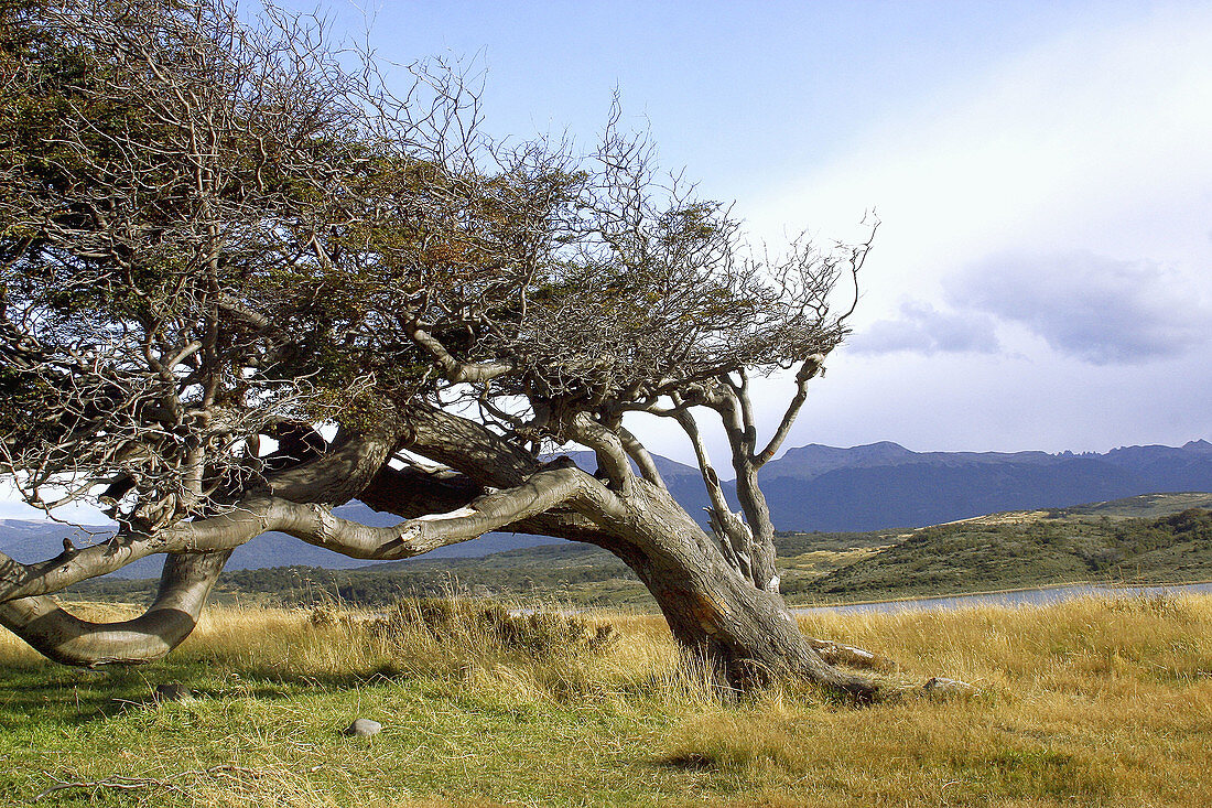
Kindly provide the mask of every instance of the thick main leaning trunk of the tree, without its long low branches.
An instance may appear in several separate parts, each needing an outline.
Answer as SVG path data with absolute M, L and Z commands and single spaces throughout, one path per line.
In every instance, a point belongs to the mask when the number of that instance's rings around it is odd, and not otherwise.
M 481 485 L 516 485 L 543 468 L 568 466 L 543 466 L 480 425 L 440 410 L 413 414 L 410 425 L 412 450 L 448 463 Z M 652 593 L 687 654 L 711 666 L 732 687 L 800 676 L 861 699 L 875 695 L 871 681 L 825 662 L 777 591 L 758 586 L 730 563 L 720 539 L 704 533 L 663 485 L 631 477 L 623 494 L 622 485 L 568 471 L 578 477 L 578 488 L 561 508 L 508 528 L 584 541 L 614 553 Z M 394 489 L 390 482 L 378 483 L 362 499 L 408 514 L 383 495 Z

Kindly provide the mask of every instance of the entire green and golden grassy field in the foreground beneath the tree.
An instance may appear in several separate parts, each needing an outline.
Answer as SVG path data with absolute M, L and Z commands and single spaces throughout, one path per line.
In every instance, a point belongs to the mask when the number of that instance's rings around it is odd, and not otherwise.
M 0 803 L 1212 804 L 1212 598 L 807 619 L 898 660 L 892 684 L 981 688 L 869 707 L 802 685 L 724 698 L 647 616 L 599 615 L 617 641 L 567 653 L 475 620 L 318 618 L 213 608 L 168 660 L 114 671 L 4 637 Z M 168 682 L 195 698 L 155 701 Z M 341 735 L 359 716 L 383 732 Z

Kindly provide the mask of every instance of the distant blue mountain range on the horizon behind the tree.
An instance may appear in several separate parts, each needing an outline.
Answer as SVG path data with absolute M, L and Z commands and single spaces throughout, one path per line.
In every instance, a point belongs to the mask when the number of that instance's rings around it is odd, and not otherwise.
M 594 467 L 588 453 L 571 453 L 571 456 L 584 468 Z M 703 514 L 708 499 L 698 470 L 667 457 L 654 460 L 678 501 L 692 514 Z M 850 449 L 811 444 L 789 449 L 768 462 L 761 482 L 779 530 L 919 528 L 999 511 L 1067 507 L 1139 494 L 1212 491 L 1212 443 L 1125 446 L 1105 454 L 917 453 L 891 442 Z M 726 493 L 731 496 L 731 490 Z M 398 522 L 396 517 L 377 513 L 361 502 L 342 506 L 337 513 L 371 525 Z M 705 516 L 702 518 L 705 520 Z M 65 536 L 76 534 L 80 545 L 102 539 L 110 529 L 86 530 L 81 534 L 61 524 L 4 519 L 0 551 L 21 562 L 40 561 L 58 553 Z M 424 557 L 486 556 L 556 541 L 524 534 L 488 534 Z M 347 569 L 366 562 L 282 534 L 267 534 L 239 547 L 228 568 L 287 564 Z M 145 558 L 124 568 L 122 574 L 154 576 L 159 567 L 159 559 Z

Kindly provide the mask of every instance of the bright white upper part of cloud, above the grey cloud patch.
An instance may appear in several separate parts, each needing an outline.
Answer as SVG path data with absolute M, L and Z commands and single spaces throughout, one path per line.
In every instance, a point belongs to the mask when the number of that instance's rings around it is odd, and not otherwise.
M 857 317 L 887 319 L 905 297 L 938 305 L 945 277 L 1007 251 L 1212 262 L 1212 8 L 1091 19 L 924 90 L 750 212 L 774 240 L 804 222 L 845 237 L 875 206 Z

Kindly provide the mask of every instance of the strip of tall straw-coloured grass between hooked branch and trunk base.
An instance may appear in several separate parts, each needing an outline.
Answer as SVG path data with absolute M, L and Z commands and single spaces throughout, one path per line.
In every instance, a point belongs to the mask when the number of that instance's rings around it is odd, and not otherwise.
M 528 699 L 690 687 L 659 619 L 518 613 L 474 599 L 406 599 L 377 611 L 217 605 L 175 656 L 284 681 L 424 678 Z

